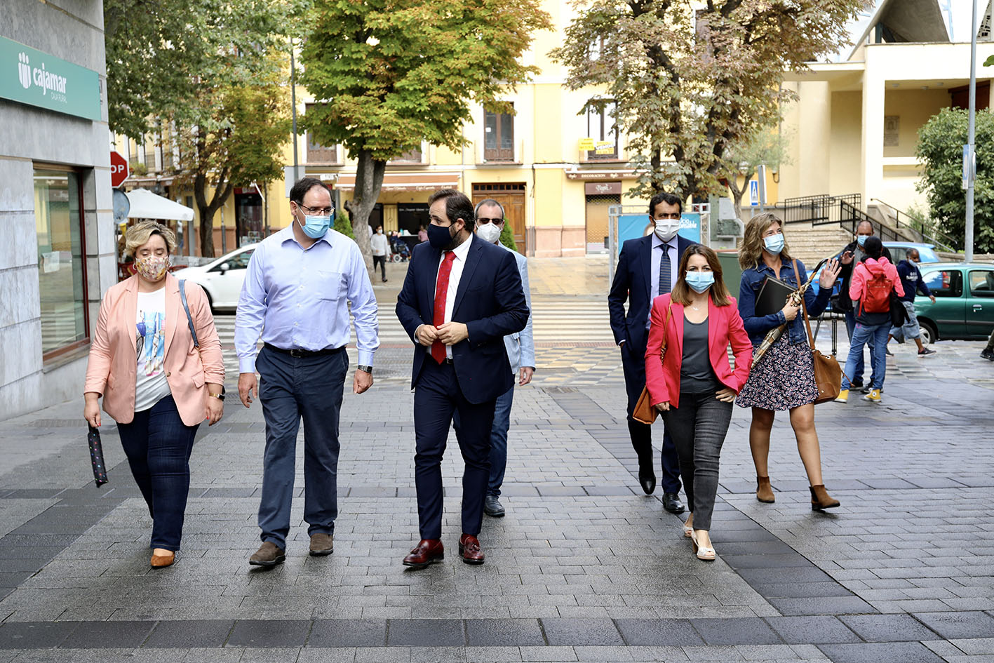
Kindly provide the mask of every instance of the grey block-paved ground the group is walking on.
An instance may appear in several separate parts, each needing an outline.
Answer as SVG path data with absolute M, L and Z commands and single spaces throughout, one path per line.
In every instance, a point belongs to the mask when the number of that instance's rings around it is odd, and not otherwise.
M 596 292 L 606 272 L 600 283 L 596 260 L 533 264 L 539 372 L 515 395 L 508 514 L 485 519 L 485 565 L 454 555 L 419 572 L 400 564 L 417 518 L 411 349 L 387 287 L 403 271 L 391 271 L 377 285 L 377 383 L 345 395 L 330 557 L 307 556 L 298 499 L 286 563 L 248 567 L 257 406 L 230 401 L 218 425 L 202 426 L 181 558 L 158 572 L 112 424 L 110 483 L 94 488 L 82 401 L 0 421 L 0 663 L 994 661 L 994 364 L 978 358 L 982 344 L 941 342 L 926 360 L 897 348 L 882 405 L 818 407 L 826 484 L 842 501 L 833 513 L 810 510 L 785 417 L 773 429 L 776 503 L 756 502 L 748 415 L 736 409 L 712 530 L 718 560 L 705 564 L 632 474 Z M 565 291 L 570 273 L 593 285 Z M 219 316 L 223 340 L 230 325 Z M 460 472 L 452 437 L 443 540 L 453 553 Z M 299 450 L 296 485 L 299 496 Z

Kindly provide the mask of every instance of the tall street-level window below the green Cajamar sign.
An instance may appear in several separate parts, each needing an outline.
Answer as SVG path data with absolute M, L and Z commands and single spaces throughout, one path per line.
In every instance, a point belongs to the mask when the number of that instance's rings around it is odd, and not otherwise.
M 35 226 L 42 304 L 42 357 L 48 360 L 87 338 L 80 176 L 35 170 Z

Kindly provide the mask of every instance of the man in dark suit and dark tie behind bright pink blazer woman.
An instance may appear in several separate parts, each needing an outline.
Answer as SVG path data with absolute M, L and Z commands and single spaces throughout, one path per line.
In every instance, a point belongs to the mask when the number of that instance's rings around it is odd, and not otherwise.
M 607 294 L 611 331 L 621 348 L 621 367 L 628 392 L 628 433 L 638 454 L 638 481 L 647 495 L 656 489 L 652 469 L 652 426 L 640 423 L 631 414 L 645 387 L 645 346 L 648 340 L 652 300 L 673 289 L 677 269 L 685 250 L 694 243 L 677 236 L 683 202 L 678 196 L 661 193 L 649 202 L 649 221 L 654 232 L 621 247 L 614 281 Z M 628 301 L 628 312 L 624 303 Z M 680 502 L 680 463 L 670 433 L 663 431 L 663 507 L 670 513 L 683 513 Z

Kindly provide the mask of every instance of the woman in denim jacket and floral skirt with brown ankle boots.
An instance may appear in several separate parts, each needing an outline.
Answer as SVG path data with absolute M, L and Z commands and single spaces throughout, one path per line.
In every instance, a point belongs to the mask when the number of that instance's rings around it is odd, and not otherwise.
M 786 410 L 790 413 L 797 450 L 811 485 L 811 508 L 821 510 L 837 507 L 839 501 L 829 496 L 821 478 L 821 451 L 818 432 L 814 428 L 814 400 L 818 397 L 818 388 L 814 382 L 814 363 L 803 316 L 799 314 L 800 307 L 788 303 L 776 313 L 755 314 L 755 297 L 766 276 L 779 278 L 794 287 L 797 287 L 798 280 L 801 283 L 807 280 L 804 264 L 800 260 L 796 262 L 795 275 L 779 218 L 764 213 L 748 221 L 743 247 L 739 250 L 739 263 L 743 267 L 739 313 L 743 317 L 745 331 L 754 347 L 762 343 L 769 330 L 783 324 L 787 328 L 762 360 L 752 367 L 736 403 L 741 408 L 752 409 L 748 444 L 752 462 L 755 463 L 756 499 L 760 502 L 774 500 L 766 465 L 769 431 L 773 427 L 775 412 Z M 804 293 L 808 315 L 817 316 L 825 310 L 838 275 L 838 261 L 829 260 L 821 272 L 818 294 L 811 288 Z

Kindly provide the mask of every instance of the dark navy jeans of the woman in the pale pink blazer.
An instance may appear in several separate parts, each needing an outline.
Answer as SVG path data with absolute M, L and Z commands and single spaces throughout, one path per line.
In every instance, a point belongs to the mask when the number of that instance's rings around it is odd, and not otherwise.
M 172 396 L 135 413 L 130 423 L 117 423 L 131 474 L 152 516 L 149 548 L 180 549 L 198 426 L 183 423 Z

